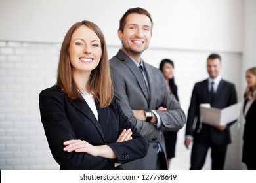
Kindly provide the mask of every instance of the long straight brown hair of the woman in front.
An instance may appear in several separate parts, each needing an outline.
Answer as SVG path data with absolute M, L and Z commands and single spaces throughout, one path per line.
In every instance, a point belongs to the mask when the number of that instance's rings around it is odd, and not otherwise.
M 62 42 L 60 50 L 60 60 L 58 63 L 57 71 L 57 84 L 60 86 L 62 91 L 68 95 L 68 99 L 73 101 L 75 99 L 81 98 L 79 88 L 75 84 L 74 78 L 72 76 L 72 65 L 70 61 L 70 40 L 74 31 L 81 26 L 87 26 L 92 29 L 101 42 L 102 56 L 98 66 L 91 71 L 89 78 L 89 88 L 93 92 L 93 96 L 98 101 L 101 108 L 110 105 L 113 98 L 113 86 L 110 76 L 110 67 L 108 61 L 108 52 L 106 49 L 106 42 L 104 35 L 100 28 L 90 21 L 77 22 L 66 33 L 64 41 Z

